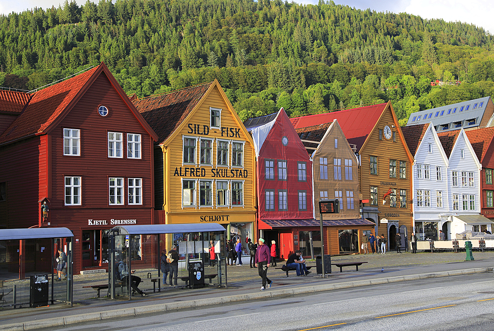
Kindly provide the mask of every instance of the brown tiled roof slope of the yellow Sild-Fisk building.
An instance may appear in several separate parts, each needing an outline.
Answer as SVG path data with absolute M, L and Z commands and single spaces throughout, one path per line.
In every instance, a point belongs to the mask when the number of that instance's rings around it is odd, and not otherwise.
M 133 100 L 133 104 L 158 134 L 157 143 L 161 145 L 187 118 L 213 83 L 214 81 Z

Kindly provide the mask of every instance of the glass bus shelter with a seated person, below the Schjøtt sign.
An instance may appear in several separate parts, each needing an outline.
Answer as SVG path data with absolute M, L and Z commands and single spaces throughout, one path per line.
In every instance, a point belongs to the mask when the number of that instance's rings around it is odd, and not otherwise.
M 172 234 L 173 243 L 168 245 L 170 247 L 165 247 L 164 241 L 160 240 L 165 234 Z M 139 245 L 134 243 L 139 243 Z M 144 258 L 151 258 L 153 265 L 158 269 L 158 277 L 151 279 L 155 284 L 158 283 L 158 291 L 161 292 L 162 250 L 166 249 L 169 253 L 171 246 L 175 247 L 180 256 L 179 260 L 175 261 L 175 263 L 178 262 L 178 273 L 176 279 L 170 278 L 171 286 L 193 287 L 194 282 L 198 283 L 201 279 L 204 284 L 206 278 L 213 285 L 228 286 L 226 229 L 221 224 L 117 225 L 109 233 L 110 297 L 115 299 L 119 295 L 131 299 L 131 282 L 134 271 L 132 264 L 138 265 L 138 261 Z M 214 260 L 210 260 L 211 247 L 214 250 Z M 142 279 L 142 281 L 146 280 Z

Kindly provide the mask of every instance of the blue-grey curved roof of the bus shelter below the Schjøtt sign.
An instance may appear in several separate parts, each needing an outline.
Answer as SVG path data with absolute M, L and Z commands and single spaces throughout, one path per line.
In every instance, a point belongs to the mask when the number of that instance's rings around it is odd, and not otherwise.
M 151 225 L 117 225 L 120 234 L 159 234 L 182 232 L 215 232 L 226 231 L 218 223 L 184 223 L 184 224 L 151 224 Z

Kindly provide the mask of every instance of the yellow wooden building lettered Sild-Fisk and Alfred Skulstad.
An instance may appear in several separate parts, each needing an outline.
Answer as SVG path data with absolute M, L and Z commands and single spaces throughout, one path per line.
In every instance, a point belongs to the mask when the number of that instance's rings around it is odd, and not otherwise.
M 159 135 L 157 222 L 220 223 L 247 246 L 256 231 L 254 145 L 218 81 L 133 103 Z M 179 236 L 166 237 L 165 247 Z

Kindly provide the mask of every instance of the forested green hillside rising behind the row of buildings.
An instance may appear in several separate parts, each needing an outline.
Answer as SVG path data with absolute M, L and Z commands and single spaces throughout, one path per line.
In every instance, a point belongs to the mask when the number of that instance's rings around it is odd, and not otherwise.
M 333 1 L 66 0 L 0 16 L 0 43 L 1 86 L 33 90 L 103 61 L 138 96 L 217 78 L 243 119 L 392 100 L 403 121 L 494 94 L 482 28 Z

